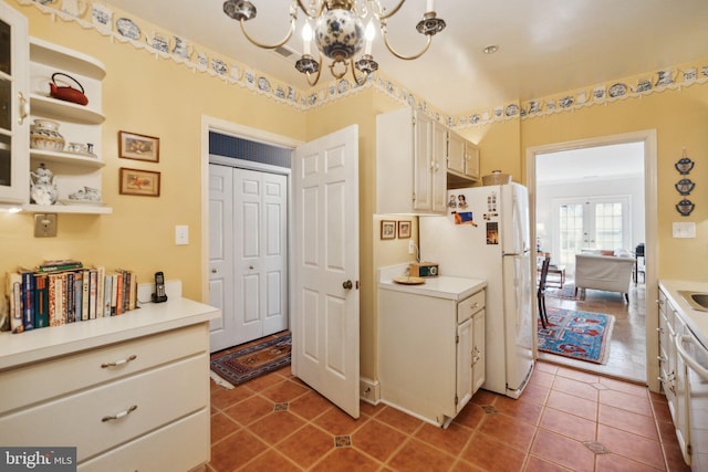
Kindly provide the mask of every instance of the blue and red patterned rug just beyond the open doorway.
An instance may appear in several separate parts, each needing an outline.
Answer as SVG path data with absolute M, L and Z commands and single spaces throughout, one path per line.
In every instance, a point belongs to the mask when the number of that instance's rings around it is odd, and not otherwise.
M 615 317 L 602 313 L 549 307 L 544 328 L 539 319 L 539 350 L 605 364 Z

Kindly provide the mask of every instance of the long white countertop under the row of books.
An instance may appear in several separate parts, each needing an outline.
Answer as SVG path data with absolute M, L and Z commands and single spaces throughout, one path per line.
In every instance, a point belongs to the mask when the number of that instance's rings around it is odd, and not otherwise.
M 188 298 L 147 303 L 118 316 L 0 334 L 0 369 L 208 322 L 219 308 Z

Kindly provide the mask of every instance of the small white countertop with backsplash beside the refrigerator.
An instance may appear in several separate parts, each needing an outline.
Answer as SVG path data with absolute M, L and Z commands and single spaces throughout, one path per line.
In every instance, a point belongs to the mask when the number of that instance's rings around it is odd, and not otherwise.
M 407 275 L 407 269 L 408 264 L 381 268 L 378 270 L 378 287 L 459 302 L 487 286 L 487 281 L 481 279 L 451 277 L 447 275 L 425 277 L 425 283 L 420 285 L 395 283 L 393 279 L 400 275 Z

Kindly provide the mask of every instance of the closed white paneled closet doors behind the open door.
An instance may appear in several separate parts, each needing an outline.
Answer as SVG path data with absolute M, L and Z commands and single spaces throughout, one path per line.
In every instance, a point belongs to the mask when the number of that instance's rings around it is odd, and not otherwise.
M 288 328 L 287 177 L 226 166 L 210 172 L 211 323 L 220 350 Z

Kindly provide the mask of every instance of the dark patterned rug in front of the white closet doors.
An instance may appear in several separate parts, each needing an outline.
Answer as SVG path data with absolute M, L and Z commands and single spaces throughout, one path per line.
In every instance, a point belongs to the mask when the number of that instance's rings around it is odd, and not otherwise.
M 218 377 L 215 378 L 212 375 L 211 378 L 220 385 L 223 385 L 220 380 L 226 380 L 233 386 L 241 385 L 263 374 L 289 366 L 291 348 L 290 332 L 278 337 L 266 338 L 260 343 L 214 358 L 211 371 Z

